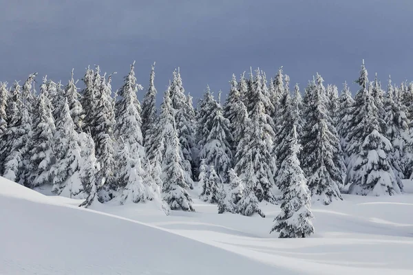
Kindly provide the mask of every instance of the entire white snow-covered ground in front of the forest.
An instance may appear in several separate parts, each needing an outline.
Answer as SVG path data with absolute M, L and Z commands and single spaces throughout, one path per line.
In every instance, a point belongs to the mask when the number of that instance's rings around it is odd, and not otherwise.
M 277 239 L 267 217 L 197 212 L 165 216 L 41 195 L 0 178 L 0 274 L 413 274 L 413 184 L 394 197 L 344 195 L 313 205 L 315 234 Z M 195 194 L 192 194 L 195 197 Z

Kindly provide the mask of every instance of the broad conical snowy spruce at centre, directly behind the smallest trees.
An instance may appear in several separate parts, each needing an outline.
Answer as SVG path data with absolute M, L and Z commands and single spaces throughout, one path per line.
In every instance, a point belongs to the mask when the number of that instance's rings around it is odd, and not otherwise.
M 232 152 L 230 141 L 232 140 L 229 120 L 222 116 L 220 105 L 215 111 L 212 129 L 207 137 L 207 142 L 203 144 L 200 157 L 205 159 L 208 165 L 213 166 L 214 170 L 224 182 L 227 181 L 228 169 L 231 168 Z

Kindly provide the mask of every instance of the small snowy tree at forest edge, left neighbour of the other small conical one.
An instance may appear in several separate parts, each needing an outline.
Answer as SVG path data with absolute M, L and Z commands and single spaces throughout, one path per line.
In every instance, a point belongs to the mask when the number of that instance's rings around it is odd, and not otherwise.
M 218 214 L 224 212 L 238 213 L 238 203 L 244 195 L 244 184 L 242 180 L 235 173 L 234 169 L 229 170 L 229 188 L 221 185 L 220 194 L 218 197 Z

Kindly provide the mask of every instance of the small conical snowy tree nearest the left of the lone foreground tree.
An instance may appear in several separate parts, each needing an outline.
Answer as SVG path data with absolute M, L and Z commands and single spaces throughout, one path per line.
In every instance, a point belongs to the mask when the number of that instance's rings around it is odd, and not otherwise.
M 257 196 L 255 196 L 255 189 L 258 184 L 258 178 L 255 175 L 255 168 L 252 160 L 246 164 L 246 169 L 244 170 L 244 175 L 242 177 L 242 182 L 245 186 L 244 195 L 241 197 L 240 201 L 237 203 L 237 210 L 240 214 L 244 216 L 252 216 L 257 213 L 261 217 L 265 218 L 264 212 L 262 212 L 260 206 L 258 205 Z

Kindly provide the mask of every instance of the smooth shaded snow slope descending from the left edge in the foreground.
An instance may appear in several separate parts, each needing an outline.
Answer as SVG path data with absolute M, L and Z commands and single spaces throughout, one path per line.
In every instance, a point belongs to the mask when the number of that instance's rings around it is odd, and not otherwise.
M 201 275 L 280 271 L 154 226 L 65 206 L 3 178 L 0 221 L 0 274 Z

